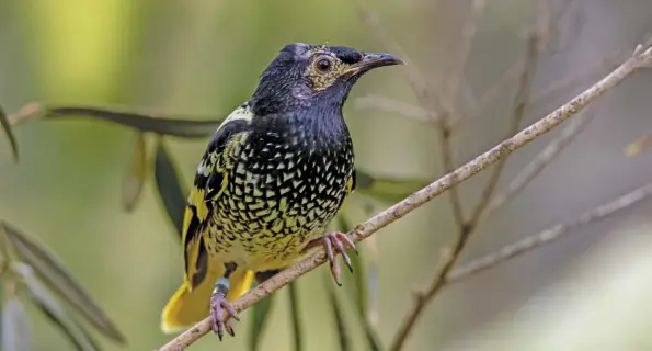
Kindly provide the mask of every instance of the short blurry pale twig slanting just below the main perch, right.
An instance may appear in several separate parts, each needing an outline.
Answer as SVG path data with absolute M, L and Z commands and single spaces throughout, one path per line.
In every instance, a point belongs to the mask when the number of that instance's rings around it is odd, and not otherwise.
M 561 132 L 559 137 L 551 140 L 521 172 L 512 180 L 507 188 L 501 193 L 496 194 L 490 202 L 483 217 L 489 217 L 490 214 L 508 203 L 516 194 L 518 194 L 529 182 L 531 182 L 554 158 L 563 151 L 563 149 L 571 145 L 575 137 L 584 131 L 588 125 L 595 113 L 591 111 L 582 111 L 582 113 L 569 123 L 569 125 Z

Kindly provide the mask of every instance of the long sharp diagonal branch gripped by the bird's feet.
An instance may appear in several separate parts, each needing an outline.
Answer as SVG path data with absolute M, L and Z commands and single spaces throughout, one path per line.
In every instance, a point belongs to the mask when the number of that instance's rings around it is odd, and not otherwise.
M 494 165 L 500 159 L 512 154 L 514 150 L 524 147 L 537 137 L 548 133 L 549 131 L 561 124 L 563 121 L 570 118 L 572 115 L 580 112 L 582 109 L 586 107 L 588 104 L 591 104 L 598 98 L 603 97 L 607 91 L 619 86 L 633 72 L 651 64 L 652 47 L 649 47 L 644 50 L 643 48 L 637 47 L 634 55 L 632 55 L 622 65 L 616 68 L 616 70 L 614 70 L 611 73 L 596 82 L 594 86 L 592 86 L 591 88 L 588 88 L 587 90 L 585 90 L 584 92 L 582 92 L 581 94 L 579 94 L 577 97 L 559 107 L 558 110 L 553 111 L 546 117 L 523 129 L 513 137 L 500 143 L 487 152 L 478 156 L 470 162 L 458 168 L 456 171 L 444 176 L 443 178 L 438 179 L 432 184 L 408 196 L 403 201 L 369 218 L 367 222 L 356 226 L 353 230 L 348 233 L 348 236 L 354 241 L 361 241 L 374 235 L 376 231 L 390 225 L 397 219 L 402 218 L 415 208 L 441 195 L 445 191 L 450 190 L 450 188 L 461 183 L 462 181 L 466 181 L 467 179 L 482 171 L 487 167 Z M 236 308 L 236 310 L 241 312 L 248 308 L 249 306 L 253 305 L 254 303 L 261 301 L 265 296 L 295 281 L 299 276 L 316 269 L 320 264 L 323 264 L 327 258 L 323 250 L 319 249 L 317 252 L 308 256 L 300 262 L 266 280 L 262 284 L 259 284 L 258 286 L 249 291 L 247 294 L 235 301 L 232 305 Z M 179 335 L 176 338 L 171 340 L 169 343 L 167 343 L 159 350 L 184 350 L 187 346 L 195 342 L 197 339 L 206 335 L 209 330 L 211 330 L 211 319 L 207 317 L 206 319 L 199 321 L 185 332 Z

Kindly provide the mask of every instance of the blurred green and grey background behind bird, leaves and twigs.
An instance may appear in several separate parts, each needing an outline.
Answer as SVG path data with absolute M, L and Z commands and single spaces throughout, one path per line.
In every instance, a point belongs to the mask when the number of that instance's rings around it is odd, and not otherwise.
M 556 2 L 556 1 L 548 1 Z M 559 1 L 557 1 L 558 3 Z M 32 101 L 119 105 L 161 114 L 222 117 L 249 98 L 260 72 L 290 42 L 387 50 L 361 22 L 356 2 L 331 1 L 0 1 L 0 102 L 8 112 Z M 365 4 L 434 87 L 451 65 L 470 1 L 379 0 Z M 524 55 L 535 1 L 488 1 L 462 80 L 462 111 Z M 541 56 L 533 90 L 631 52 L 652 31 L 647 0 L 574 0 L 559 20 L 556 49 Z M 614 67 L 559 89 L 528 106 L 525 124 L 570 100 Z M 367 94 L 416 104 L 403 68 L 365 77 L 345 106 L 358 167 L 374 174 L 435 180 L 442 176 L 437 133 L 398 113 L 361 109 Z M 652 75 L 637 73 L 592 105 L 594 121 L 508 206 L 487 220 L 462 261 L 615 199 L 652 179 L 652 152 L 624 148 L 652 131 Z M 454 136 L 458 162 L 506 133 L 515 89 L 505 89 Z M 148 182 L 131 213 L 121 206 L 121 181 L 134 131 L 89 118 L 27 123 L 15 128 L 21 160 L 0 140 L 0 218 L 37 236 L 59 257 L 125 332 L 121 347 L 152 350 L 170 340 L 159 330 L 161 308 L 182 279 L 174 227 Z M 504 186 L 559 131 L 514 155 Z M 206 140 L 169 138 L 190 184 Z M 485 174 L 461 186 L 469 207 Z M 354 224 L 366 202 L 348 206 Z M 375 202 L 371 213 L 388 203 Z M 649 350 L 652 348 L 652 202 L 595 222 L 571 236 L 445 290 L 433 302 L 407 350 Z M 427 285 L 455 225 L 447 196 L 382 229 L 378 252 L 378 320 L 388 346 Z M 298 281 L 306 350 L 336 350 L 338 339 L 319 268 Z M 346 273 L 347 274 L 347 273 Z M 277 292 L 264 350 L 291 350 L 287 288 Z M 34 347 L 70 344 L 33 308 Z M 248 320 L 248 312 L 242 314 Z M 222 343 L 207 337 L 192 350 L 245 350 L 249 322 Z M 354 349 L 363 335 L 352 333 Z

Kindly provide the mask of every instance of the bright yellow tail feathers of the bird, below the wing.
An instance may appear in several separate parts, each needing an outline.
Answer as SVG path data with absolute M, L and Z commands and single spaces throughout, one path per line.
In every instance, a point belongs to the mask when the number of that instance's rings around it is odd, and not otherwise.
M 224 272 L 219 272 L 224 273 Z M 215 281 L 221 276 L 217 272 L 209 272 L 199 285 L 191 290 L 186 280 L 176 290 L 174 295 L 163 308 L 161 316 L 161 330 L 165 333 L 178 332 L 186 329 L 208 317 L 210 313 L 210 295 Z M 228 301 L 233 301 L 249 291 L 254 273 L 250 270 L 238 268 L 229 276 Z

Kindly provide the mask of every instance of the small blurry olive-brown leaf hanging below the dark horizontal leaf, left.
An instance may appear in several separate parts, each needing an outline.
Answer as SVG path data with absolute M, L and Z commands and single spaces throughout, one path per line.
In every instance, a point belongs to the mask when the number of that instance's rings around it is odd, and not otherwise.
M 126 211 L 134 210 L 147 178 L 147 147 L 142 133 L 136 134 L 129 168 L 123 178 L 122 199 Z

